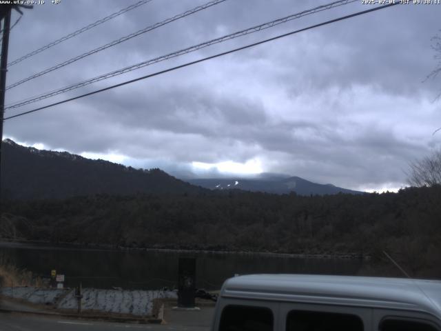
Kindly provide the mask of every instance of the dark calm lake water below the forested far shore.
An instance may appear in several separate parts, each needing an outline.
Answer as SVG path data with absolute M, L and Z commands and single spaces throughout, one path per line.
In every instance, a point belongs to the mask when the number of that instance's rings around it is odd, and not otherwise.
M 196 257 L 196 287 L 217 290 L 234 274 L 308 273 L 359 274 L 369 261 L 300 259 L 258 254 L 145 252 L 72 248 L 25 243 L 0 243 L 0 257 L 41 277 L 50 270 L 65 274 L 65 286 L 125 289 L 174 288 L 178 258 Z

